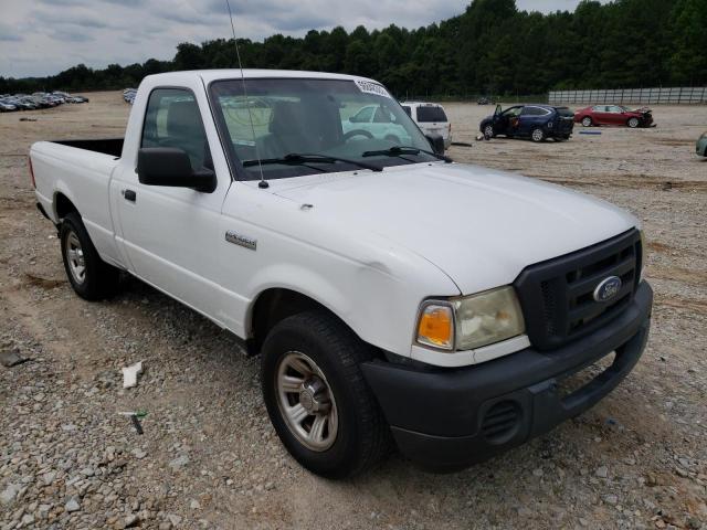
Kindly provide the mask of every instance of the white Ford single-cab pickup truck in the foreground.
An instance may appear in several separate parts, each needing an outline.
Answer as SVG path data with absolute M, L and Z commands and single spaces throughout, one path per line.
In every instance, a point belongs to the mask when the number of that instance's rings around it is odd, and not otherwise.
M 350 128 L 369 106 L 409 145 Z M 30 170 L 75 292 L 127 272 L 242 338 L 306 468 L 349 476 L 397 445 L 444 471 L 609 393 L 653 294 L 633 216 L 440 140 L 371 80 L 177 72 L 145 78 L 125 139 L 40 141 Z

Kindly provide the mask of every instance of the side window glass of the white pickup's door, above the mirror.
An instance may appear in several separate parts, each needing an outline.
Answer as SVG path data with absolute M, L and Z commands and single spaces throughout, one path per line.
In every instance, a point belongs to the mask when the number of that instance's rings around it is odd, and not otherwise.
M 181 88 L 152 91 L 140 147 L 175 147 L 189 155 L 192 169 L 212 169 L 207 134 L 194 95 Z

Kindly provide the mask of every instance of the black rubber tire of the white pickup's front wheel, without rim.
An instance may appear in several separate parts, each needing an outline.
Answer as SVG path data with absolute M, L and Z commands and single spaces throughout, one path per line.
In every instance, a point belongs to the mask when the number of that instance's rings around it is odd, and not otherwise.
M 336 403 L 337 433 L 325 451 L 308 448 L 281 412 L 278 370 L 293 352 L 304 353 L 316 363 Z M 368 344 L 324 311 L 288 317 L 265 338 L 261 383 L 267 413 L 283 445 L 312 473 L 327 478 L 350 477 L 374 466 L 389 452 L 390 428 L 360 369 L 372 358 Z

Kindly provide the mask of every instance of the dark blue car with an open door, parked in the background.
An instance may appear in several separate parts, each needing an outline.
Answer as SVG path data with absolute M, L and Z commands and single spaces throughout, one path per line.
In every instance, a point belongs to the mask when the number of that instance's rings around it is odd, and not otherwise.
M 494 115 L 484 118 L 479 126 L 486 138 L 503 135 L 508 138 L 530 138 L 532 141 L 546 138 L 567 140 L 573 128 L 572 112 L 551 105 L 516 105 L 505 110 L 498 105 Z

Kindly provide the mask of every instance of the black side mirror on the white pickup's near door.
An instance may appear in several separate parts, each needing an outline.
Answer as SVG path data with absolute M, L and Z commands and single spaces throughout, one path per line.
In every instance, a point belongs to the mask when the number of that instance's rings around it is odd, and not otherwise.
M 189 155 L 175 147 L 145 147 L 137 152 L 137 177 L 141 184 L 192 188 L 211 193 L 217 189 L 217 174 L 202 168 L 191 169 Z

